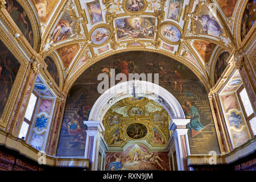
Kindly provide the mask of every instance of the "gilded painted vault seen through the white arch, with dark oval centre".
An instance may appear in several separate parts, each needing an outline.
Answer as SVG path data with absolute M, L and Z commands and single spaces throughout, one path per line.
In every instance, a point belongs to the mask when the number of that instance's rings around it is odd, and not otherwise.
M 169 116 L 157 102 L 146 97 L 127 97 L 116 102 L 104 116 L 104 138 L 111 147 L 131 141 L 166 146 L 170 133 Z

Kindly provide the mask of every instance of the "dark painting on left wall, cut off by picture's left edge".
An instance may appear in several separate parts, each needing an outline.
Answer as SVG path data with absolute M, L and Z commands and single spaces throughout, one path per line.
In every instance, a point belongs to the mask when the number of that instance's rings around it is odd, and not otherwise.
M 0 116 L 13 87 L 20 63 L 0 41 Z

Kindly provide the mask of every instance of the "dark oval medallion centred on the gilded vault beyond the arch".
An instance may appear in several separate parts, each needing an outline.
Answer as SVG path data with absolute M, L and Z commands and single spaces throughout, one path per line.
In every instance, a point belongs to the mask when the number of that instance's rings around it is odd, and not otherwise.
M 127 127 L 126 134 L 132 139 L 142 139 L 147 135 L 147 127 L 141 123 L 133 123 Z

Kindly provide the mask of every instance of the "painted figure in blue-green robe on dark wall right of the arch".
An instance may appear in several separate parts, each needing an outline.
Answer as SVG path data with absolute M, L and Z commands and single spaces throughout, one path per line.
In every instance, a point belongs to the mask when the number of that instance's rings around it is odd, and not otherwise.
M 199 131 L 204 129 L 204 126 L 200 122 L 199 111 L 196 109 L 195 106 L 192 106 L 189 101 L 186 101 L 184 113 L 187 114 L 185 115 L 186 119 L 190 119 L 190 122 L 188 123 L 188 129 L 191 130 L 193 137 L 197 133 L 199 133 Z

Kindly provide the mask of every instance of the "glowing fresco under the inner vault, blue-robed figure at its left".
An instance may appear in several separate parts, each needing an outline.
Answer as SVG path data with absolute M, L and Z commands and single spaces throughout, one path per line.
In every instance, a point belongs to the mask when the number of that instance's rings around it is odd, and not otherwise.
M 169 169 L 168 152 L 150 152 L 139 144 L 128 147 L 124 152 L 106 154 L 106 171 Z

